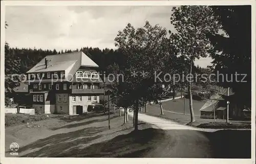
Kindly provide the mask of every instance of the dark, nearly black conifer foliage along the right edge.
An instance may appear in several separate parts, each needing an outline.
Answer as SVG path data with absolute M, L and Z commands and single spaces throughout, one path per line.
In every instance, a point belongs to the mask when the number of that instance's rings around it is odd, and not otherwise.
M 208 36 L 214 45 L 214 51 L 217 51 L 211 54 L 215 71 L 228 77 L 224 79 L 220 77 L 218 85 L 232 89 L 239 102 L 239 108 L 244 106 L 250 108 L 251 6 L 212 6 L 211 8 L 225 33 L 225 35 L 209 34 Z

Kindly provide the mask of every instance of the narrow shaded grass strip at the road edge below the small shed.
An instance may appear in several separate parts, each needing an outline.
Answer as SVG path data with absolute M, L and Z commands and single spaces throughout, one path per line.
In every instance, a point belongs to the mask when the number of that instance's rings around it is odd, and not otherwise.
M 198 128 L 208 128 L 208 129 L 251 129 L 250 124 L 239 124 L 239 123 L 223 123 L 223 122 L 210 122 L 205 124 L 200 124 Z

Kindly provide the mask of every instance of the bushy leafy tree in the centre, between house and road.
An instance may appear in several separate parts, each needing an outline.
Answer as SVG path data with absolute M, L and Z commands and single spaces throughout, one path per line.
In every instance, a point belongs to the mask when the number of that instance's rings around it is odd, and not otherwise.
M 121 96 L 129 98 L 129 107 L 135 111 L 135 130 L 138 130 L 139 108 L 144 107 L 145 101 L 157 101 L 161 93 L 158 89 L 162 86 L 161 81 L 155 81 L 154 75 L 155 72 L 164 71 L 169 45 L 166 34 L 166 29 L 158 25 L 151 26 L 146 21 L 144 27 L 138 29 L 128 24 L 115 38 L 118 51 L 126 60 L 120 66 L 125 75 L 125 81 L 122 82 L 125 90 Z

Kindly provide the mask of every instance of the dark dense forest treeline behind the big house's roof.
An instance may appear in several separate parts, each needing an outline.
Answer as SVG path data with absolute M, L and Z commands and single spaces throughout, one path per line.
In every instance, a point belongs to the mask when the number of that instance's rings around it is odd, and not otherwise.
M 6 59 L 13 58 L 12 60 L 17 61 L 15 64 L 17 69 L 15 73 L 24 74 L 29 71 L 34 65 L 36 65 L 41 59 L 48 55 L 57 55 L 57 54 L 65 54 L 71 52 L 78 52 L 82 51 L 88 57 L 90 57 L 94 62 L 99 65 L 101 72 L 106 72 L 107 67 L 114 63 L 120 64 L 121 55 L 118 53 L 117 50 L 105 48 L 103 50 L 99 48 L 92 48 L 92 47 L 83 47 L 80 50 L 61 50 L 57 52 L 54 50 L 42 50 L 42 49 L 28 49 L 28 48 L 10 48 L 8 43 L 5 45 L 6 51 Z M 11 66 L 6 63 L 6 66 Z M 12 64 L 13 66 L 13 64 Z M 14 72 L 13 72 L 14 73 Z M 5 69 L 5 74 L 13 74 L 9 71 L 9 69 Z

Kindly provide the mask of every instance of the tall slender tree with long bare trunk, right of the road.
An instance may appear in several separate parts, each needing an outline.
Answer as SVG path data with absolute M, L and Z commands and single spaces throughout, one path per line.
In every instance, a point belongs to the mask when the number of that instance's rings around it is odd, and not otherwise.
M 174 25 L 176 33 L 172 33 L 172 43 L 176 45 L 179 53 L 190 63 L 189 74 L 195 59 L 206 57 L 212 49 L 206 34 L 215 34 L 219 30 L 219 22 L 212 9 L 207 6 L 181 6 L 173 7 L 170 22 Z M 189 80 L 189 109 L 191 122 L 195 122 L 193 100 Z

